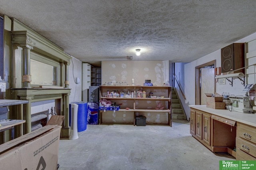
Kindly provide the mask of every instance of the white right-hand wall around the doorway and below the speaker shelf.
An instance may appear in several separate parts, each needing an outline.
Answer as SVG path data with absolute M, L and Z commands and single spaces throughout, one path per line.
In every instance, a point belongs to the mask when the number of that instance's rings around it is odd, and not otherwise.
M 244 37 L 243 39 L 240 39 L 234 43 L 241 43 L 241 42 L 244 43 L 244 42 L 252 41 L 254 39 L 256 39 L 256 33 L 253 33 L 248 37 Z M 221 49 L 214 51 L 213 53 L 210 53 L 204 57 L 201 57 L 200 59 L 192 61 L 191 63 L 185 64 L 184 90 L 185 90 L 186 101 L 185 103 L 182 103 L 182 105 L 184 107 L 187 117 L 190 117 L 190 107 L 188 107 L 188 105 L 195 104 L 195 67 L 213 60 L 216 60 L 216 67 L 220 67 L 221 66 L 220 50 Z M 222 94 L 222 92 L 229 92 L 230 94 L 234 94 L 234 95 L 244 95 L 243 93 L 241 93 L 243 88 L 244 86 L 241 84 L 241 81 L 238 79 L 234 79 L 233 87 L 229 84 L 228 81 L 226 81 L 225 85 L 219 85 L 218 83 L 216 83 L 216 92 L 219 94 Z

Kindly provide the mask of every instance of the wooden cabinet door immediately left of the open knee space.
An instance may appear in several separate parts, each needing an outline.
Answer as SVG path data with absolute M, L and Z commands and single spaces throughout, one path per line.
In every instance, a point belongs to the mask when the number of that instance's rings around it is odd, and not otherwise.
M 211 117 L 208 115 L 203 114 L 203 141 L 207 145 L 211 145 L 211 135 L 210 129 L 211 128 Z

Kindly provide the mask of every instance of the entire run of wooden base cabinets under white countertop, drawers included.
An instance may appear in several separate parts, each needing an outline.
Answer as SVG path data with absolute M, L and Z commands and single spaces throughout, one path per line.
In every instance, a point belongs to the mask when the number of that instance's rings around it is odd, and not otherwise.
M 212 152 L 236 160 L 256 160 L 256 127 L 198 109 L 190 109 L 190 134 Z

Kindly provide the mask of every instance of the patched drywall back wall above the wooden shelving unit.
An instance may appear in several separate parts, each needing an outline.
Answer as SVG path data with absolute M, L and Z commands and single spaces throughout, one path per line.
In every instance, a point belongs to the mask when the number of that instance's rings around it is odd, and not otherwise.
M 151 80 L 154 86 L 163 86 L 169 81 L 169 61 L 102 61 L 102 84 L 127 82 L 142 86 Z

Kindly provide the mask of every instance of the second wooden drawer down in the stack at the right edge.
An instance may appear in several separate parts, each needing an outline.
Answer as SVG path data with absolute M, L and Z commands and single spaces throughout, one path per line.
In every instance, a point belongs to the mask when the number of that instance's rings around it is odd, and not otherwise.
M 240 149 L 256 157 L 256 146 L 238 137 L 236 138 L 236 149 Z

